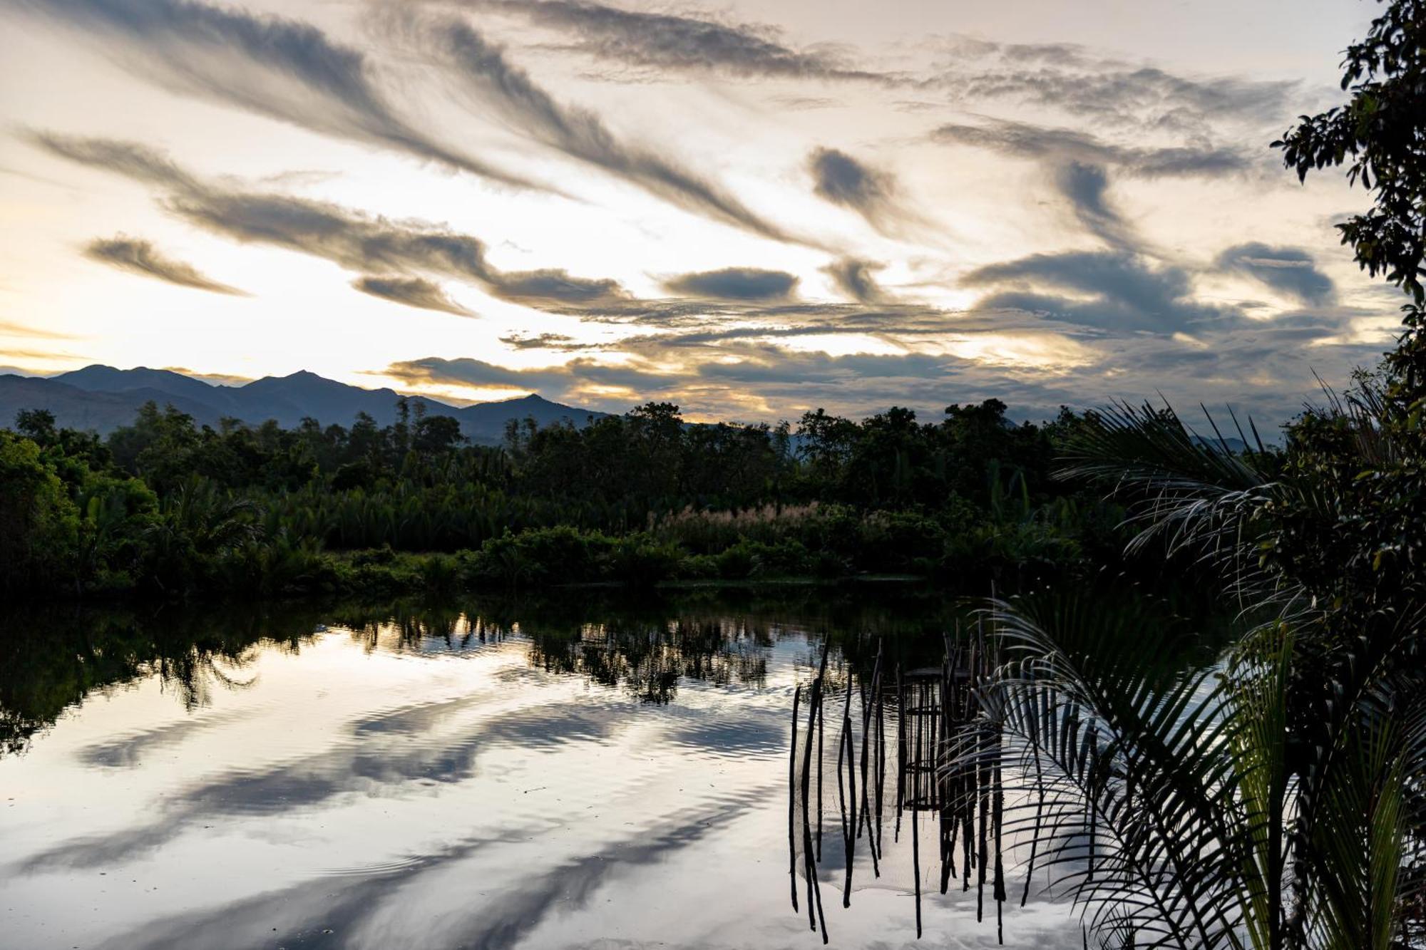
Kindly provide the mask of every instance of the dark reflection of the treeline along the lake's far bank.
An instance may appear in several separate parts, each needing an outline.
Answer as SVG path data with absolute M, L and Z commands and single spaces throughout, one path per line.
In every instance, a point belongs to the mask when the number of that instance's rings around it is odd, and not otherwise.
M 528 640 L 532 668 L 669 703 L 680 680 L 764 685 L 767 652 L 789 623 L 830 639 L 857 666 L 874 659 L 863 656 L 870 635 L 938 630 L 953 609 L 937 598 L 823 589 L 635 601 L 583 591 L 436 603 L 34 608 L 0 616 L 0 755 L 23 752 L 87 695 L 151 676 L 185 709 L 207 706 L 215 690 L 252 685 L 244 668 L 261 650 L 295 653 L 327 630 L 345 632 L 369 652 L 463 652 L 513 636 Z

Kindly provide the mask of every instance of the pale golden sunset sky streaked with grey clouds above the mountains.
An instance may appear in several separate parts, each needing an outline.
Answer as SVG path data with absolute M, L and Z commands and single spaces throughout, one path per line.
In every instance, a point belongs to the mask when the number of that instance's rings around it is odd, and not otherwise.
M 1275 425 L 1399 294 L 1271 143 L 1365 0 L 0 0 L 0 371 Z

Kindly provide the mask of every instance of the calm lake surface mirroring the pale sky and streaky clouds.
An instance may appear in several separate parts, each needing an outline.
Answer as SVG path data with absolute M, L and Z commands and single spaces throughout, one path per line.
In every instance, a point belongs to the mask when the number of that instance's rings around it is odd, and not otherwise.
M 827 589 L 0 616 L 0 946 L 820 947 L 800 843 L 789 893 L 794 689 L 824 643 L 860 682 L 878 649 L 938 662 L 957 622 Z M 974 884 L 940 893 L 894 760 L 880 877 L 856 842 L 843 907 L 840 715 L 830 944 L 997 946 L 988 889 L 984 923 Z M 1079 947 L 1021 887 L 1004 946 Z

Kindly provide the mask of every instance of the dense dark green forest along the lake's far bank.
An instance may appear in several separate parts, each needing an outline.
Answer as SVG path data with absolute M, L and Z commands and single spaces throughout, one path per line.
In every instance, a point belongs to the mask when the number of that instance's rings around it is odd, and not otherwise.
M 198 427 L 145 405 L 106 439 L 44 411 L 0 431 L 0 583 L 87 595 L 399 592 L 917 575 L 1117 561 L 1122 511 L 1055 478 L 1097 417 L 689 424 L 649 404 L 512 424 L 501 448 L 405 401 L 392 425 Z

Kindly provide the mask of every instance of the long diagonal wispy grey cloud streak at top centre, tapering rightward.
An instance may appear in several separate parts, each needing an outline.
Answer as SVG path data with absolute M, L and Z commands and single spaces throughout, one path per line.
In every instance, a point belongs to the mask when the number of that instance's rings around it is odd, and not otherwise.
M 791 240 L 783 228 L 719 185 L 645 147 L 620 141 L 593 111 L 556 101 L 469 24 L 453 19 L 406 17 L 406 26 L 438 50 L 468 90 L 495 104 L 508 120 L 546 145 L 687 211 L 776 241 Z

